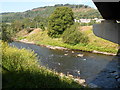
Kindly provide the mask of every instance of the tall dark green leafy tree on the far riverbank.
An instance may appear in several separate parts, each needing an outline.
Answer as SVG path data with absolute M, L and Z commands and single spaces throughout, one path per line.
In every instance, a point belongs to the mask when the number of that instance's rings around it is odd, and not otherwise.
M 59 37 L 67 28 L 74 24 L 73 12 L 69 7 L 58 7 L 50 15 L 48 21 L 48 35 Z

